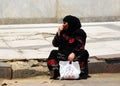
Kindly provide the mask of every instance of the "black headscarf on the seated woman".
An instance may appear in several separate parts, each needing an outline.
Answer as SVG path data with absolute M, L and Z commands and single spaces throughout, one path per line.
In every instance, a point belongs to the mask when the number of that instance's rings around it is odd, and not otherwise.
M 63 18 L 63 22 L 68 22 L 68 34 L 72 34 L 77 29 L 81 28 L 80 20 L 75 16 L 67 15 Z

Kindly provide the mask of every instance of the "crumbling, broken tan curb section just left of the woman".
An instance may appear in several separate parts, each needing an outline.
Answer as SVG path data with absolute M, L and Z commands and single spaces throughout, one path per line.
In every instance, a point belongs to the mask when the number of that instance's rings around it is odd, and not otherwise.
M 9 61 L 12 65 L 12 78 L 27 78 L 48 75 L 47 63 L 40 60 Z

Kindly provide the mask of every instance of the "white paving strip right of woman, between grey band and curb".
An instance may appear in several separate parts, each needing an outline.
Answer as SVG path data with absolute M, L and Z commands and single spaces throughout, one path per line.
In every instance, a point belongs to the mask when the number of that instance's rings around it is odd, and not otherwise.
M 86 44 L 86 49 L 89 51 L 90 56 L 119 54 L 120 53 L 120 40 L 92 42 Z

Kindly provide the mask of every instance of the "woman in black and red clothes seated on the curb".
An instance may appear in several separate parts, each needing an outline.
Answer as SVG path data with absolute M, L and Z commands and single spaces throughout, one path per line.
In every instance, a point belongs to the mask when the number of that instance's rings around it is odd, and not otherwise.
M 52 50 L 47 59 L 47 66 L 50 70 L 51 79 L 59 76 L 59 61 L 79 61 L 81 67 L 80 76 L 88 76 L 89 53 L 85 50 L 86 32 L 81 29 L 80 20 L 72 15 L 63 18 L 63 24 L 52 41 L 58 50 Z

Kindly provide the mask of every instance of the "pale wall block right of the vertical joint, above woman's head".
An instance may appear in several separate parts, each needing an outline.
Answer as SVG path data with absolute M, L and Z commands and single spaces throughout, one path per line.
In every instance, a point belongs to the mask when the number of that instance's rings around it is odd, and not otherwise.
M 120 16 L 120 0 L 58 0 L 58 16 Z

